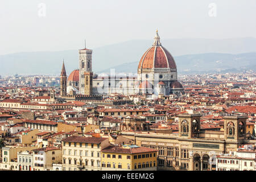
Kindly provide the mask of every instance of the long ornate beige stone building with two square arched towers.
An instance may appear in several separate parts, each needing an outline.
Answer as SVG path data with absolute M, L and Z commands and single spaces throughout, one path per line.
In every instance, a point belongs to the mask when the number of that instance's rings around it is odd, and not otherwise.
M 156 134 L 123 131 L 123 137 L 135 140 L 138 146 L 158 150 L 158 169 L 195 170 L 216 169 L 216 155 L 236 151 L 246 140 L 246 119 L 243 116 L 224 117 L 224 131 L 200 130 L 199 114 L 180 114 L 179 133 Z

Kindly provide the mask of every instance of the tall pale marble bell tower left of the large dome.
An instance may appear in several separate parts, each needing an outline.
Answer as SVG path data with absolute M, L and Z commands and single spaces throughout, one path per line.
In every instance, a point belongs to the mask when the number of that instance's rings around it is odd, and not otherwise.
M 92 72 L 92 50 L 79 50 L 79 93 L 85 94 L 85 72 Z

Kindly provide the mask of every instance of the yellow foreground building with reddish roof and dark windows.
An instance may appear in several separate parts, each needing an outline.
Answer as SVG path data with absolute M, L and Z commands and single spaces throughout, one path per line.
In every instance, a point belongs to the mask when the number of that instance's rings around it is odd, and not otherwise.
M 136 145 L 101 150 L 102 171 L 156 171 L 157 150 Z

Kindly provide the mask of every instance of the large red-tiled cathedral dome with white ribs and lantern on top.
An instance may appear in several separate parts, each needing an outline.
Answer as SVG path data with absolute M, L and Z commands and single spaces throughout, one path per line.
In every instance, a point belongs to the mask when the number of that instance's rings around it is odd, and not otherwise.
M 138 69 L 143 68 L 171 68 L 176 69 L 176 63 L 171 53 L 162 47 L 158 31 L 156 31 L 155 41 L 143 54 L 139 61 Z

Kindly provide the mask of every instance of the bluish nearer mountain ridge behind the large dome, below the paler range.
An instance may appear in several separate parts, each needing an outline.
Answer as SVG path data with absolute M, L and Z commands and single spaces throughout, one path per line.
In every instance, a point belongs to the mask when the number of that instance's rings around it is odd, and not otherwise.
M 244 70 L 256 71 L 256 52 L 241 53 L 237 55 L 228 53 L 203 53 L 194 55 L 174 56 L 179 73 L 205 73 L 205 72 L 241 72 Z M 101 72 L 137 73 L 138 61 L 120 64 L 104 69 Z

